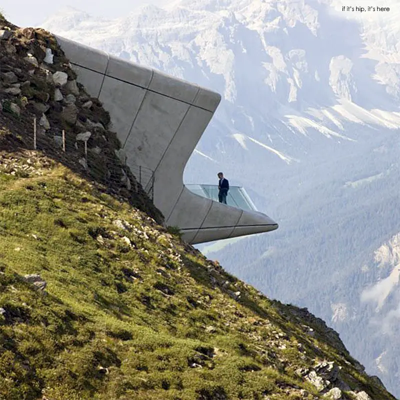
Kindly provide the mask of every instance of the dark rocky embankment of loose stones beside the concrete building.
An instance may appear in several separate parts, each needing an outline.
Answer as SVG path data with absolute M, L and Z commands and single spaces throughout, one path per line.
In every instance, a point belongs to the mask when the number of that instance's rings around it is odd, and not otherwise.
M 2 148 L 15 142 L 20 146 L 20 140 L 26 148 L 32 148 L 36 117 L 39 149 L 105 184 L 108 192 L 163 223 L 160 211 L 115 155 L 120 143 L 109 130 L 108 112 L 77 83 L 55 38 L 43 29 L 18 28 L 0 19 L 1 31 L 1 123 L 20 136 L 19 142 L 12 135 L 1 137 Z M 63 154 L 59 152 L 62 130 L 66 142 Z

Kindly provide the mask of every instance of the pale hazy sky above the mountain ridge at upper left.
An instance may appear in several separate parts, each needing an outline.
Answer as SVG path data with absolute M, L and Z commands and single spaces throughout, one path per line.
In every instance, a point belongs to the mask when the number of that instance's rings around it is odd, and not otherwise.
M 167 0 L 1 0 L 0 10 L 15 25 L 32 26 L 66 6 L 91 15 L 114 18 L 145 3 L 161 5 L 166 2 Z

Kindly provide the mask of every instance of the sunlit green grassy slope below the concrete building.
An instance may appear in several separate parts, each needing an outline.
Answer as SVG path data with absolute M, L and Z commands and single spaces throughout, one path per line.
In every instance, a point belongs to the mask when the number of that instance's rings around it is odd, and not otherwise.
M 10 156 L 0 159 L 0 398 L 311 399 L 294 371 L 322 359 L 351 388 L 393 398 L 318 325 L 307 321 L 306 334 L 295 307 L 55 161 L 24 152 L 14 163 L 30 158 L 42 175 L 18 177 Z M 46 293 L 27 273 L 40 273 Z

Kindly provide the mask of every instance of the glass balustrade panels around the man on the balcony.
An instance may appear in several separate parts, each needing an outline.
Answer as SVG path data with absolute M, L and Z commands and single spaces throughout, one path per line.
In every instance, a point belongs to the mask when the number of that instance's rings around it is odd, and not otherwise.
M 218 186 L 216 184 L 185 183 L 185 186 L 199 196 L 218 201 Z M 229 186 L 226 204 L 246 211 L 257 211 L 247 192 L 240 186 Z

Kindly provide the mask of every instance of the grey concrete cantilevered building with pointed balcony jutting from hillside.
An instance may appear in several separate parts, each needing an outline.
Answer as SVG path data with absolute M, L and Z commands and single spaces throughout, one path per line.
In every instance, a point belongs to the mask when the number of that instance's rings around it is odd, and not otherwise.
M 56 38 L 77 80 L 109 111 L 127 165 L 154 171 L 154 204 L 167 225 L 179 226 L 192 244 L 278 227 L 261 212 L 220 204 L 183 184 L 183 169 L 219 104 L 218 93 Z

